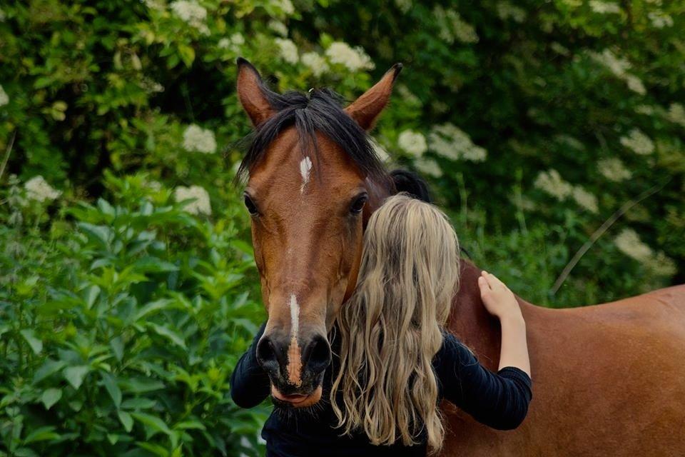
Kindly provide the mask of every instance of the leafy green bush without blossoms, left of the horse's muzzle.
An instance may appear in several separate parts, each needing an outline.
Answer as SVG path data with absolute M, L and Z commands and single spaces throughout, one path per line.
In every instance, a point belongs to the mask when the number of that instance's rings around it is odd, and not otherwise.
M 0 231 L 4 453 L 258 455 L 267 411 L 228 396 L 263 319 L 242 209 L 210 222 L 141 176 L 106 184 L 113 204 L 62 209 L 73 224 L 46 238 L 46 205 L 21 206 L 13 189 L 18 212 Z

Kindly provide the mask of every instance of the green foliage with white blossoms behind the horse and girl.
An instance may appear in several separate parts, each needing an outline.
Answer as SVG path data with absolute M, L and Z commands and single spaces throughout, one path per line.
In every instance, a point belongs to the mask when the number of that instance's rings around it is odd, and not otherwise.
M 259 455 L 245 56 L 347 99 L 545 306 L 685 280 L 685 2 L 31 0 L 0 9 L 0 455 Z M 359 47 L 357 47 L 359 46 Z M 621 207 L 651 194 L 631 206 Z M 625 208 L 624 208 L 625 209 Z M 614 212 L 558 291 L 555 279 Z

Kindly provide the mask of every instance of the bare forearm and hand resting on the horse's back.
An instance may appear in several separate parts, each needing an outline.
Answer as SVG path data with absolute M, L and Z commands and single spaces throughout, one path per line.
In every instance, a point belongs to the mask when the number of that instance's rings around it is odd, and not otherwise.
M 492 273 L 483 271 L 478 278 L 480 297 L 487 311 L 499 318 L 502 327 L 502 349 L 499 369 L 514 366 L 530 376 L 530 360 L 526 341 L 526 321 L 514 293 Z

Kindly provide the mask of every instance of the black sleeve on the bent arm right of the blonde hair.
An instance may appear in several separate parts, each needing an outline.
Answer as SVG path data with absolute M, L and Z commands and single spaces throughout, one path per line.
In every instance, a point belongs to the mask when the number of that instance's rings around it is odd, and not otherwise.
M 434 363 L 442 396 L 487 426 L 517 428 L 532 399 L 530 377 L 513 366 L 492 373 L 455 336 L 443 336 Z

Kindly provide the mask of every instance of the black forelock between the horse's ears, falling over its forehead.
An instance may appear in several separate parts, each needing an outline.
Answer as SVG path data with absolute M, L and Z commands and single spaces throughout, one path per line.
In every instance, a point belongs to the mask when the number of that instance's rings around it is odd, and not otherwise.
M 387 179 L 387 172 L 366 131 L 343 111 L 344 100 L 340 94 L 326 88 L 311 89 L 307 94 L 299 91 L 277 94 L 264 81 L 259 84 L 275 114 L 256 126 L 245 138 L 249 146 L 240 162 L 237 179 L 244 178 L 263 159 L 265 151 L 278 134 L 293 125 L 298 131 L 303 156 L 313 156 L 315 163 L 318 156 L 315 134 L 320 131 L 345 151 L 362 174 L 372 179 Z

